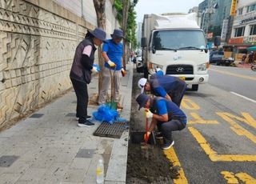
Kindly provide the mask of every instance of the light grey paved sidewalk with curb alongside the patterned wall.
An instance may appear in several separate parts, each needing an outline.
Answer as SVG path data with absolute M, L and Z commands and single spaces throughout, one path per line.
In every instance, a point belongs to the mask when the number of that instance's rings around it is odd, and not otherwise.
M 121 117 L 130 121 L 133 64 L 122 78 Z M 98 78 L 88 86 L 98 93 Z M 129 130 L 120 139 L 96 137 L 94 127 L 78 127 L 74 90 L 0 133 L 0 183 L 96 183 L 96 165 L 104 158 L 105 183 L 126 183 Z M 98 106 L 89 106 L 88 114 Z M 41 117 L 40 117 L 41 116 Z M 39 117 L 39 118 L 37 118 Z

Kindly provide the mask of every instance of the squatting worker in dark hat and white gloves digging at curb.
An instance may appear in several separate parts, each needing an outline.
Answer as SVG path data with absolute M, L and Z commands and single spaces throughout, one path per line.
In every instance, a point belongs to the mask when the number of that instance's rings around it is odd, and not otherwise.
M 186 127 L 186 114 L 174 102 L 166 98 L 150 98 L 146 94 L 139 94 L 136 101 L 139 105 L 138 110 L 144 107 L 146 118 L 152 118 L 150 128 L 144 138 L 149 137 L 157 125 L 158 130 L 161 131 L 157 138 L 163 138 L 164 141 L 162 149 L 168 150 L 174 146 L 172 131 L 182 130 Z

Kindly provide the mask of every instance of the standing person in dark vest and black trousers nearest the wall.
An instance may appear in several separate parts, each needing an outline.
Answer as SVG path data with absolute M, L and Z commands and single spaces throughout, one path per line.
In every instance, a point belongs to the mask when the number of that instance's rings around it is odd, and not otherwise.
M 88 30 L 86 38 L 80 42 L 75 50 L 74 61 L 70 70 L 70 80 L 77 96 L 78 126 L 94 126 L 87 114 L 88 91 L 87 84 L 90 83 L 91 73 L 98 72 L 99 67 L 94 64 L 95 46 L 105 42 L 106 32 L 101 28 Z

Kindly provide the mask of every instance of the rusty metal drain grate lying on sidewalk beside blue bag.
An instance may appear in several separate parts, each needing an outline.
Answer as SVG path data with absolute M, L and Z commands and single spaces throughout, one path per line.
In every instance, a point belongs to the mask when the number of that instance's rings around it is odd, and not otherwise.
M 126 122 L 114 122 L 112 125 L 108 122 L 102 122 L 94 135 L 109 138 L 121 138 L 123 130 L 126 129 Z

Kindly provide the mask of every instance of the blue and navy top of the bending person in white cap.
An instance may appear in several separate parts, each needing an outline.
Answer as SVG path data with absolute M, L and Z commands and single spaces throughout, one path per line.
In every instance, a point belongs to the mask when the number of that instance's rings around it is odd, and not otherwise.
M 152 94 L 165 98 L 170 94 L 182 80 L 169 75 L 152 75 L 150 78 L 150 87 Z M 186 85 L 185 82 L 183 82 Z

